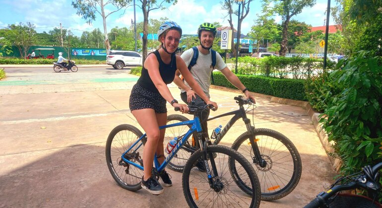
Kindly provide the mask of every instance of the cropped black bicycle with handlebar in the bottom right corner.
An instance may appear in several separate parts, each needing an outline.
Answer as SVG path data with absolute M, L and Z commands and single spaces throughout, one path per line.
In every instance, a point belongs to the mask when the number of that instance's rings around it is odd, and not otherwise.
M 374 167 L 365 166 L 358 173 L 339 178 L 328 191 L 319 193 L 305 208 L 382 208 L 377 201 L 381 194 L 381 168 L 382 162 Z M 340 193 L 353 189 L 365 190 L 368 196 Z

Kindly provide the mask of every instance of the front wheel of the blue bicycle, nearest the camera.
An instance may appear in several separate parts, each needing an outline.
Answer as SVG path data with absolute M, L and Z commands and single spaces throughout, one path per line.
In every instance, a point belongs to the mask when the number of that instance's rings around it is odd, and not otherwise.
M 185 165 L 182 176 L 183 192 L 190 207 L 223 207 L 223 208 L 258 208 L 260 205 L 260 189 L 258 178 L 254 168 L 236 151 L 221 145 L 211 145 L 206 148 L 207 160 L 212 178 L 207 173 L 193 168 L 196 162 L 203 156 L 203 152 L 197 150 L 191 155 Z M 216 157 L 214 155 L 216 154 Z M 210 157 L 211 156 L 211 157 Z M 211 159 L 214 158 L 214 162 Z M 242 179 L 246 180 L 254 192 L 245 193 L 232 178 L 229 160 L 235 161 L 235 167 L 240 170 Z M 213 167 L 216 167 L 217 174 Z M 208 171 L 207 171 L 208 172 Z M 209 180 L 213 181 L 211 188 Z

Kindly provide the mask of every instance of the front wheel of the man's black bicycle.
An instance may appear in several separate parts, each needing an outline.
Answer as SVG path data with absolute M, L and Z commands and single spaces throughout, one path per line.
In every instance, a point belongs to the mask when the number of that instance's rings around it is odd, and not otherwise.
M 271 129 L 254 129 L 255 141 L 266 166 L 255 163 L 250 132 L 240 135 L 232 149 L 241 153 L 254 166 L 260 181 L 261 200 L 273 201 L 290 194 L 300 181 L 302 163 L 293 143 L 284 135 Z M 239 176 L 237 176 L 240 178 Z M 245 186 L 243 186 L 245 187 Z

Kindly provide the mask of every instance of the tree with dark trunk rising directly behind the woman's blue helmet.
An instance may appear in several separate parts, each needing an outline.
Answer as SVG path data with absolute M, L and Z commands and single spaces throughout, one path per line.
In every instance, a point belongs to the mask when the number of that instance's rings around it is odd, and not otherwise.
M 148 15 L 149 12 L 155 9 L 165 9 L 165 7 L 162 5 L 163 3 L 171 3 L 176 4 L 178 0 L 162 0 L 158 4 L 157 0 L 139 0 L 142 5 L 140 8 L 143 12 L 143 37 L 142 37 L 142 65 L 147 57 L 147 34 L 148 34 Z

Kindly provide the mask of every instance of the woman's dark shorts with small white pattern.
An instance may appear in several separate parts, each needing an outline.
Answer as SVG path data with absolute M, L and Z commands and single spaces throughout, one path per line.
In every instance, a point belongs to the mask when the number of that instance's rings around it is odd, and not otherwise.
M 166 100 L 160 93 L 147 90 L 138 84 L 132 87 L 128 106 L 130 111 L 151 108 L 156 113 L 167 112 Z

